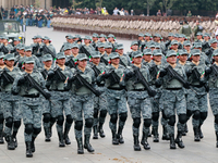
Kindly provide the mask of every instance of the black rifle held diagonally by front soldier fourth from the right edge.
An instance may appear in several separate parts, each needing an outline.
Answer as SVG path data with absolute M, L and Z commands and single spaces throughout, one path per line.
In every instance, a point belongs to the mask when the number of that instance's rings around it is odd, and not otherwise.
M 157 92 L 149 87 L 149 84 L 147 83 L 143 74 L 141 73 L 140 68 L 134 67 L 133 71 L 135 73 L 137 82 L 141 83 L 145 87 L 145 89 L 147 90 L 150 97 L 155 97 Z

